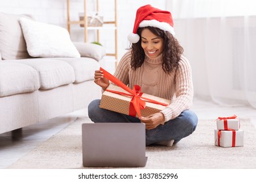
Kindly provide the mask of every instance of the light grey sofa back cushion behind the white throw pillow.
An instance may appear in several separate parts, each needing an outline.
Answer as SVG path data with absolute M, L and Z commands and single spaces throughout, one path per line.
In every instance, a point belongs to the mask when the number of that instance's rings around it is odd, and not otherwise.
M 2 59 L 29 58 L 18 19 L 29 17 L 0 12 L 0 52 Z

